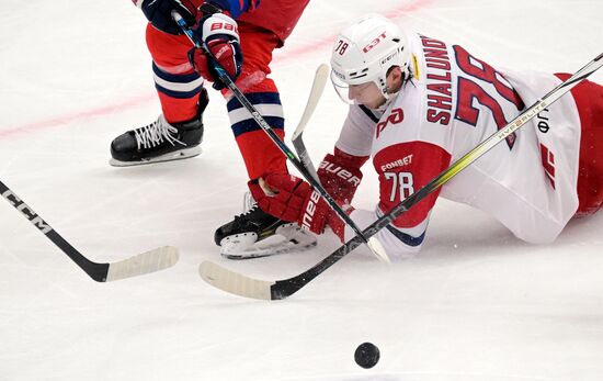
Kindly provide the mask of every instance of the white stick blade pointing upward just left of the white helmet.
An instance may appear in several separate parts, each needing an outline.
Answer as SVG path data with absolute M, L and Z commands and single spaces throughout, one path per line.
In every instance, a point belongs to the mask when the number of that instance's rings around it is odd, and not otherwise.
M 329 76 L 328 65 L 322 64 L 316 69 L 316 75 L 314 77 L 312 88 L 310 90 L 310 96 L 308 97 L 308 102 L 306 103 L 306 109 L 304 110 L 304 114 L 302 114 L 302 119 L 297 124 L 297 128 L 295 128 L 295 132 L 291 137 L 293 147 L 295 148 L 297 156 L 299 157 L 299 159 L 302 160 L 302 163 L 304 164 L 308 172 L 318 182 L 320 182 L 320 180 L 318 179 L 318 175 L 316 173 L 316 169 L 314 167 L 312 160 L 310 159 L 310 156 L 308 155 L 308 149 L 306 149 L 306 145 L 304 144 L 304 139 L 302 138 L 302 135 L 304 135 L 304 128 L 306 128 L 306 124 L 308 124 L 308 121 L 310 120 L 310 116 L 314 114 L 314 111 L 316 110 L 316 105 L 320 100 L 320 96 L 322 96 L 322 91 L 325 90 L 325 85 L 327 83 L 328 76 Z

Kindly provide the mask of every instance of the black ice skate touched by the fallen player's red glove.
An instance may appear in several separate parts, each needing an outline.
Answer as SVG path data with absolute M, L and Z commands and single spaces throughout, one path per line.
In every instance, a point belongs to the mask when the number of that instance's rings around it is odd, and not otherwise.
M 316 246 L 316 237 L 297 224 L 278 220 L 253 205 L 214 235 L 220 254 L 229 259 L 249 259 L 302 251 Z

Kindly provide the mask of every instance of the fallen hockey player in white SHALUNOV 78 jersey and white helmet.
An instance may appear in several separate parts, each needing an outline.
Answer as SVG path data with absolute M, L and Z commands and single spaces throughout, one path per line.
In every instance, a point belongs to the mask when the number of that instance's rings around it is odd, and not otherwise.
M 360 227 L 419 190 L 569 75 L 494 69 L 459 45 L 405 34 L 385 18 L 345 29 L 331 79 L 351 103 L 319 177 Z M 379 176 L 374 211 L 350 202 L 372 157 Z M 268 172 L 252 187 L 266 212 L 315 233 L 353 232 L 300 179 Z M 584 81 L 510 135 L 376 237 L 399 257 L 420 250 L 437 197 L 489 213 L 517 238 L 553 242 L 576 215 L 603 203 L 603 87 Z

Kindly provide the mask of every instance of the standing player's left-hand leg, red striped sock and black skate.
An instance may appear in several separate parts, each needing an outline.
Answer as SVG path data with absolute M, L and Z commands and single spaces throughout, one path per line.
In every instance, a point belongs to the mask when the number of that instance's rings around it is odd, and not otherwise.
M 202 116 L 208 98 L 203 78 L 186 58 L 190 41 L 184 35 L 171 35 L 149 24 L 147 46 L 163 113 L 157 121 L 128 131 L 112 142 L 110 163 L 114 166 L 182 159 L 201 153 Z

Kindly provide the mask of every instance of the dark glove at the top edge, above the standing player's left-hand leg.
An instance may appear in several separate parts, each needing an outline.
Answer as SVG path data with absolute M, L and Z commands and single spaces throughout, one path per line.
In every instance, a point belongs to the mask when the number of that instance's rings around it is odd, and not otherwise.
M 181 34 L 182 30 L 172 19 L 172 11 L 180 13 L 186 25 L 196 23 L 197 9 L 190 0 L 135 0 L 152 26 L 170 34 Z

